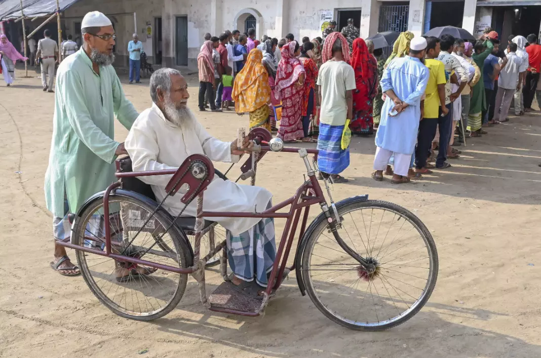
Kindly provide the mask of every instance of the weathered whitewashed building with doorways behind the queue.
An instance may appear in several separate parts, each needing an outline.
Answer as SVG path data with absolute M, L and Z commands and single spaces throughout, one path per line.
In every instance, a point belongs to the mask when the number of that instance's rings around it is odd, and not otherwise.
M 541 22 L 541 0 L 80 0 L 62 14 L 64 38 L 80 37 L 81 19 L 92 10 L 113 21 L 117 65 L 127 65 L 128 41 L 137 32 L 149 62 L 190 68 L 196 67 L 203 35 L 217 36 L 225 29 L 255 28 L 257 38 L 281 38 L 289 32 L 298 39 L 313 38 L 321 36 L 331 19 L 342 28 L 353 18 L 361 37 L 388 30 L 410 30 L 419 36 L 437 26 L 453 25 L 473 35 L 491 26 L 506 39 L 511 34 L 539 34 Z M 56 24 L 48 26 L 56 32 Z

